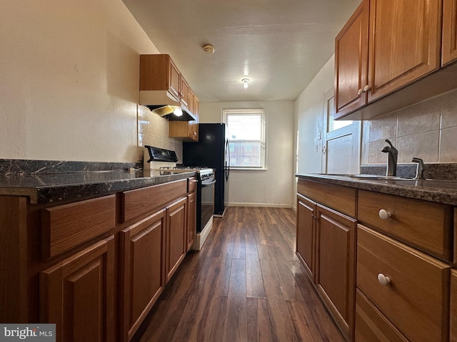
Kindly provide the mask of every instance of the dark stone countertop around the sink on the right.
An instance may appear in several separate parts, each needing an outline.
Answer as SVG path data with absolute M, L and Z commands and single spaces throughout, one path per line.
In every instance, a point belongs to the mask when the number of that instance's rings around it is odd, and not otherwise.
M 314 180 L 383 194 L 423 199 L 431 202 L 457 205 L 456 180 L 377 180 L 348 175 L 296 174 L 303 180 Z

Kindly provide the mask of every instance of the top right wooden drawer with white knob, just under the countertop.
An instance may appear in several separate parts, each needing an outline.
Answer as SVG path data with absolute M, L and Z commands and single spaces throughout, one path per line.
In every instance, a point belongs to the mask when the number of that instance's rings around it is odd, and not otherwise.
M 391 213 L 381 219 L 379 211 Z M 358 192 L 358 220 L 424 252 L 451 261 L 452 207 L 377 192 Z

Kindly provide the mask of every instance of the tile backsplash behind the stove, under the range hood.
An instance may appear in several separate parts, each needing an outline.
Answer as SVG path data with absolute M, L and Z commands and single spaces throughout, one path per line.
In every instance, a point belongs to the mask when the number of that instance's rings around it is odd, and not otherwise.
M 151 110 L 138 105 L 138 155 L 143 160 L 144 145 L 174 150 L 182 162 L 183 145 L 181 140 L 169 138 L 169 121 Z

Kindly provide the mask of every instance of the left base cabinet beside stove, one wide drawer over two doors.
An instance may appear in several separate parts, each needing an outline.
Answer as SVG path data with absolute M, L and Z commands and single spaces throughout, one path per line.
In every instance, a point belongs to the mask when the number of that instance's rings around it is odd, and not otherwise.
M 124 229 L 119 232 L 122 341 L 134 336 L 186 256 L 191 214 L 188 197 L 193 194 L 188 183 L 193 184 L 185 179 L 122 193 Z

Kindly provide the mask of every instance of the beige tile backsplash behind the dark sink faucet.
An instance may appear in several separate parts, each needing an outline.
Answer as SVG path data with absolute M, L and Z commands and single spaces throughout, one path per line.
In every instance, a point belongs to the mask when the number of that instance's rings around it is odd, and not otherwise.
M 391 140 L 398 163 L 457 162 L 457 90 L 363 123 L 361 165 L 386 164 Z

